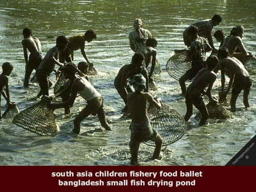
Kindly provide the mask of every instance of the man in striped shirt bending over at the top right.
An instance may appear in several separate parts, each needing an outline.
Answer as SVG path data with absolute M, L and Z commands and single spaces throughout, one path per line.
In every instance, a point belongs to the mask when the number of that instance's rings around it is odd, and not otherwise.
M 214 47 L 213 40 L 212 40 L 212 28 L 214 26 L 219 25 L 220 22 L 222 22 L 222 17 L 216 14 L 212 17 L 212 19 L 202 20 L 188 26 L 183 32 L 183 40 L 185 45 L 188 47 L 190 47 L 191 45 L 191 40 L 188 35 L 188 29 L 191 26 L 196 26 L 198 28 L 198 36 L 207 38 L 212 49 L 217 51 L 217 49 Z

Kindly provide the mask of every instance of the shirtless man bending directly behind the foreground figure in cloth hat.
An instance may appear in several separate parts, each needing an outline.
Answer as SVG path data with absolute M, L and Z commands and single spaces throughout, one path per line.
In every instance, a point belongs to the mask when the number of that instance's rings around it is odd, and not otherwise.
M 126 96 L 127 93 L 132 92 L 132 88 L 127 82 L 128 78 L 132 79 L 134 75 L 142 74 L 146 78 L 145 92 L 148 92 L 148 72 L 147 69 L 142 65 L 144 59 L 145 57 L 142 53 L 135 53 L 132 57 L 132 62 L 122 66 L 114 80 L 114 86 L 121 98 L 124 100 L 125 107 L 122 109 L 122 112 L 126 112 L 128 110 Z

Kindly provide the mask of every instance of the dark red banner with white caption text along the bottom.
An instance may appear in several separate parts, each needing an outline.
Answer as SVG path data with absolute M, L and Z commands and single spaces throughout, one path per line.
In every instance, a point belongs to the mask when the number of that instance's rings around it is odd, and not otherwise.
M 8 191 L 253 190 L 256 166 L 1 166 Z M 136 187 L 136 188 L 135 188 Z

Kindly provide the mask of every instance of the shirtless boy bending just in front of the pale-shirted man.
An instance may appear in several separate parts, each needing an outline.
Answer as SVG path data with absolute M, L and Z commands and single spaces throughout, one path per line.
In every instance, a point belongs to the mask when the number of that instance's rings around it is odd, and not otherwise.
M 157 40 L 155 38 L 148 38 L 148 40 L 146 41 L 146 47 L 137 49 L 137 52 L 142 53 L 145 57 L 146 68 L 148 68 L 148 65 L 150 64 L 151 57 L 152 57 L 152 66 L 148 74 L 148 79 L 150 82 L 153 81 L 152 74 L 156 66 L 156 53 L 157 53 L 155 49 L 156 46 L 157 46 Z

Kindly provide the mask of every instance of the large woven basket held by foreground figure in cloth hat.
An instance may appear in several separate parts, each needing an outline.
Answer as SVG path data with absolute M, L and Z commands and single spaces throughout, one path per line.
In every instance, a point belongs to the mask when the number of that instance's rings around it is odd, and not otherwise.
M 160 110 L 150 106 L 148 108 L 148 118 L 152 128 L 162 137 L 162 146 L 178 141 L 187 130 L 184 118 L 176 110 L 163 103 Z M 145 141 L 144 144 L 155 146 L 155 142 L 151 140 Z

